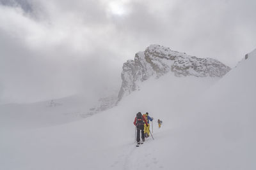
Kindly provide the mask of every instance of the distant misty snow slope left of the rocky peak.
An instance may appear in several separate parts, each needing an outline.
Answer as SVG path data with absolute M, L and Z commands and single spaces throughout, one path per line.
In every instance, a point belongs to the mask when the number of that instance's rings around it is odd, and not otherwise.
M 82 94 L 38 103 L 0 105 L 1 127 L 47 127 L 89 117 L 115 106 L 117 91 Z

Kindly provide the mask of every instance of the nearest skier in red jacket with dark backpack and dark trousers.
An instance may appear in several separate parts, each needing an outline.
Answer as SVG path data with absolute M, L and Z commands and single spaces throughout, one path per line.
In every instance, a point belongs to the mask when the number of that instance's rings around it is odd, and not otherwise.
M 133 122 L 133 124 L 136 125 L 136 129 L 137 129 L 137 138 L 136 138 L 137 146 L 142 144 L 145 141 L 144 122 L 148 126 L 148 123 L 145 117 L 143 117 L 140 112 L 137 113 Z M 140 132 L 141 132 L 142 143 L 140 143 Z

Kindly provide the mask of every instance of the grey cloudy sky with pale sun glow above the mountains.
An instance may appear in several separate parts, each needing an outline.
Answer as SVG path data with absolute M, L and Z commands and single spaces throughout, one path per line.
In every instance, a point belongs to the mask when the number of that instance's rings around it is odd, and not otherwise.
M 0 103 L 121 83 L 151 44 L 230 67 L 256 48 L 254 0 L 0 0 Z

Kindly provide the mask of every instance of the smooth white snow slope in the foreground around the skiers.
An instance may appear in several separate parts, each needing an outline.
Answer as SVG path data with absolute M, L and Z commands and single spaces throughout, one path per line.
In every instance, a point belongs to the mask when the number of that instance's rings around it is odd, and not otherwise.
M 256 56 L 249 56 L 214 85 L 219 78 L 164 74 L 78 122 L 1 128 L 1 168 L 255 169 Z M 154 117 L 154 140 L 136 148 L 138 111 Z

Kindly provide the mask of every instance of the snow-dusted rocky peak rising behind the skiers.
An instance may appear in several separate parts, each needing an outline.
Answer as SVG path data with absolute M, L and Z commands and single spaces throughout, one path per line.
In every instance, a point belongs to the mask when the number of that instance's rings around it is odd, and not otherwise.
M 150 45 L 144 52 L 136 53 L 134 60 L 124 63 L 118 101 L 138 90 L 141 81 L 151 76 L 159 78 L 170 71 L 175 76 L 222 77 L 230 67 L 216 59 L 201 59 L 164 46 Z

